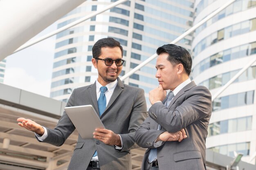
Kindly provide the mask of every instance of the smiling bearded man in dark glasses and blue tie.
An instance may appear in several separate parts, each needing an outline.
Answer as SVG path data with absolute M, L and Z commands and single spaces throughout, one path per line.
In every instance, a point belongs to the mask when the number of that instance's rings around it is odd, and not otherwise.
M 92 64 L 98 70 L 94 84 L 74 89 L 68 106 L 92 105 L 105 128 L 97 128 L 94 139 L 79 135 L 68 170 L 131 170 L 135 131 L 146 119 L 144 91 L 128 86 L 118 78 L 124 64 L 123 48 L 113 38 L 98 40 L 92 48 Z M 100 101 L 100 102 L 99 102 Z M 54 129 L 18 118 L 19 126 L 36 133 L 40 142 L 61 146 L 75 130 L 64 112 Z

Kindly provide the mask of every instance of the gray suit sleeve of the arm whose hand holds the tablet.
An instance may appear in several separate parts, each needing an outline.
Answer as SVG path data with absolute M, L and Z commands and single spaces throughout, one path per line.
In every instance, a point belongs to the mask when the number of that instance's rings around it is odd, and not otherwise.
M 137 128 L 147 117 L 146 99 L 144 96 L 144 90 L 140 89 L 136 92 L 134 97 L 134 104 L 130 113 L 130 124 L 128 128 L 128 134 L 119 134 L 123 140 L 123 148 L 119 152 L 126 150 L 139 148 L 135 142 L 135 132 Z

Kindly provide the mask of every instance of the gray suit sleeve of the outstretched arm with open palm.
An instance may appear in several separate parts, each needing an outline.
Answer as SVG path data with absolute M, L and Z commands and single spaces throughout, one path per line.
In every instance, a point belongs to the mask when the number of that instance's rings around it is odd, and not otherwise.
M 75 93 L 76 93 L 76 89 L 74 89 L 72 95 L 70 96 L 70 99 L 68 100 L 66 107 L 74 106 Z M 75 130 L 75 127 L 72 124 L 72 121 L 70 120 L 70 118 L 67 116 L 67 114 L 64 111 L 56 127 L 54 129 L 50 129 L 50 128 L 46 128 L 46 129 L 47 129 L 48 136 L 46 137 L 45 140 L 41 142 L 45 142 L 55 146 L 61 146 L 64 144 L 66 139 L 71 135 L 71 133 Z

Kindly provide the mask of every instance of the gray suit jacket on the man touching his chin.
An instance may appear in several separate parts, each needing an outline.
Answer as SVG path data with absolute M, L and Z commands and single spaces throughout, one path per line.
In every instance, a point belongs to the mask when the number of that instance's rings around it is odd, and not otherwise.
M 166 99 L 165 99 L 166 100 Z M 165 102 L 165 101 L 163 101 Z M 154 141 L 164 131 L 177 132 L 185 128 L 186 139 L 166 141 L 157 148 L 159 170 L 204 170 L 205 139 L 211 117 L 211 93 L 204 86 L 194 82 L 186 85 L 173 98 L 168 108 L 163 103 L 153 104 L 149 116 L 135 133 L 135 139 L 142 148 L 154 148 Z M 157 130 L 158 124 L 162 126 Z M 141 170 L 148 170 L 146 150 Z

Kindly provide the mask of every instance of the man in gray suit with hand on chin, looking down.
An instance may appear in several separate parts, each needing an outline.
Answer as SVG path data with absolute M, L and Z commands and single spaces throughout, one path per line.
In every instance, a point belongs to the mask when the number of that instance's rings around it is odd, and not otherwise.
M 149 117 L 135 133 L 137 144 L 148 148 L 141 170 L 206 170 L 211 93 L 191 82 L 192 59 L 186 49 L 166 44 L 157 55 L 159 87 L 150 91 Z M 167 97 L 165 90 L 170 90 Z M 173 135 L 179 130 L 182 137 L 175 141 Z

